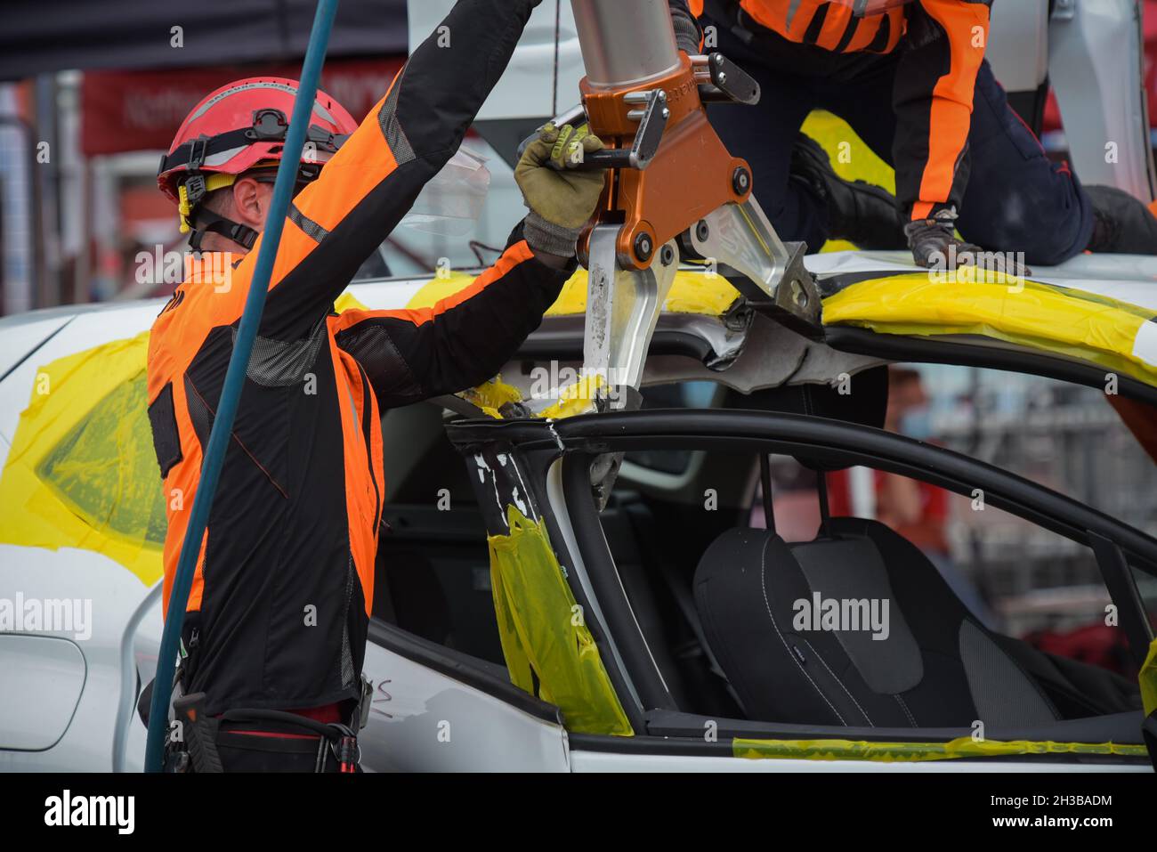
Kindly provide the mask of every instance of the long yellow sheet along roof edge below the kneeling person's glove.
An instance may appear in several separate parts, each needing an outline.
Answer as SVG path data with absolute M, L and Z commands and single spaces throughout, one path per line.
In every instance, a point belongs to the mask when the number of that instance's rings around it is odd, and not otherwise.
M 970 267 L 860 281 L 824 300 L 825 325 L 886 335 L 981 335 L 1157 385 L 1157 365 L 1133 352 L 1137 332 L 1152 317 L 1151 310 L 1107 296 L 1037 281 L 1011 286 L 998 274 Z

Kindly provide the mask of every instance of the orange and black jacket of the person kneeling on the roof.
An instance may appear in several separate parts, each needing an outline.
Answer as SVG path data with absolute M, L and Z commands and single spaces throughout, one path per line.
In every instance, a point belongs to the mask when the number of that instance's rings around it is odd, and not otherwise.
M 686 0 L 671 0 L 679 14 Z M 827 0 L 739 0 L 784 38 L 833 53 L 904 51 L 897 68 L 896 194 L 912 219 L 959 208 L 968 181 L 968 128 L 992 0 L 912 0 L 855 17 Z M 701 15 L 703 0 L 690 0 Z M 758 175 L 756 176 L 758 181 Z

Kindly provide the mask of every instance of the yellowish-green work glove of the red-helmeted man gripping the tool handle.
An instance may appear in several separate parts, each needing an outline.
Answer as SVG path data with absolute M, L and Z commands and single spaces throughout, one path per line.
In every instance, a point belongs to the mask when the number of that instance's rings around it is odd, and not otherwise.
M 514 179 L 530 213 L 523 236 L 535 251 L 572 257 L 583 226 L 603 194 L 603 169 L 584 171 L 587 154 L 603 148 L 585 124 L 572 127 L 545 125 L 526 146 L 514 170 Z

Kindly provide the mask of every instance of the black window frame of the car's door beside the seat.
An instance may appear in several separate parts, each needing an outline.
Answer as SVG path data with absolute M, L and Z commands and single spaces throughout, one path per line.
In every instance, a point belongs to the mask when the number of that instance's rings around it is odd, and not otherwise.
M 663 684 L 647 639 L 631 610 L 591 497 L 590 464 L 609 453 L 678 448 L 750 450 L 753 457 L 758 453 L 806 455 L 838 467 L 863 464 L 968 497 L 974 497 L 974 490 L 980 489 L 986 505 L 1089 546 L 1098 558 L 1103 573 L 1112 578 L 1106 579 L 1106 587 L 1121 610 L 1122 623 L 1128 624 L 1130 644 L 1142 642 L 1147 637 L 1151 641 L 1152 638 L 1143 611 L 1137 612 L 1140 598 L 1135 581 L 1127 570 L 1122 571 L 1122 566 L 1132 564 L 1157 575 L 1157 539 L 1042 485 L 942 447 L 841 420 L 742 410 L 616 412 L 553 423 L 464 421 L 449 426 L 448 431 L 451 441 L 466 454 L 499 450 L 508 454 L 511 463 L 504 465 L 506 472 L 517 477 L 533 492 L 535 501 L 551 529 L 560 561 L 574 568 L 568 572 L 567 580 L 576 600 L 588 612 L 587 623 L 595 634 L 607 674 L 617 686 L 624 711 L 636 732 L 648 730 L 648 717 L 653 719 L 656 711 L 678 711 L 678 707 Z M 506 493 L 494 485 L 488 482 L 479 489 L 480 500 L 485 491 L 495 502 L 489 511 L 484 505 L 484 515 L 489 514 L 491 517 L 495 512 L 501 513 L 502 494 Z M 1112 558 L 1114 553 L 1127 559 Z M 1127 592 L 1129 588 L 1132 594 Z M 1148 641 L 1144 645 L 1148 649 Z M 1137 653 L 1136 648 L 1133 651 Z M 786 732 L 783 726 L 764 726 L 764 733 L 773 728 Z M 688 757 L 710 757 L 714 762 L 714 758 L 731 756 L 732 747 L 728 737 L 705 742 L 701 737 L 671 736 L 672 733 L 635 737 L 572 735 L 573 749 L 602 755 L 583 758 L 575 764 L 576 769 L 587 764 L 599 769 L 629 765 L 642 769 L 644 763 L 656 757 L 663 758 L 659 764 L 678 758 L 672 765 L 685 769 Z M 804 733 L 806 739 L 833 737 L 838 733 L 848 735 L 845 729 L 802 726 L 795 730 L 796 739 Z M 856 733 L 863 734 L 865 740 L 894 740 L 904 732 Z M 922 735 L 929 737 L 931 733 L 922 732 Z M 968 732 L 939 733 L 941 736 L 930 739 L 945 741 L 949 734 L 967 735 Z M 912 730 L 907 730 L 904 739 L 913 740 Z M 784 767 L 797 762 L 757 763 L 774 763 Z M 983 763 L 992 767 L 1063 765 L 1073 769 L 1089 765 L 1086 758 L 1078 762 L 1066 755 L 989 758 Z M 1129 762 L 1128 765 L 1141 764 Z

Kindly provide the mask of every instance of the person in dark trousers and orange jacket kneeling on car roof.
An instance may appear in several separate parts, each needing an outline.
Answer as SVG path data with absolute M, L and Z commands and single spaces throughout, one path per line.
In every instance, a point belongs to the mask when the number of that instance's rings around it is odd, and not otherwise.
M 784 240 L 911 249 L 921 266 L 1023 252 L 1157 254 L 1157 218 L 1112 186 L 1083 186 L 1008 104 L 985 49 L 992 0 L 669 0 L 678 44 L 702 27 L 760 85 L 756 106 L 717 104 L 712 125 L 745 157 Z M 896 198 L 845 181 L 799 126 L 845 119 L 896 168 Z M 956 232 L 964 236 L 957 237 Z M 968 241 L 968 242 L 965 242 Z M 973 243 L 979 243 L 974 245 Z M 1016 271 L 994 257 L 1001 269 Z M 1022 270 L 1023 271 L 1023 270 Z

